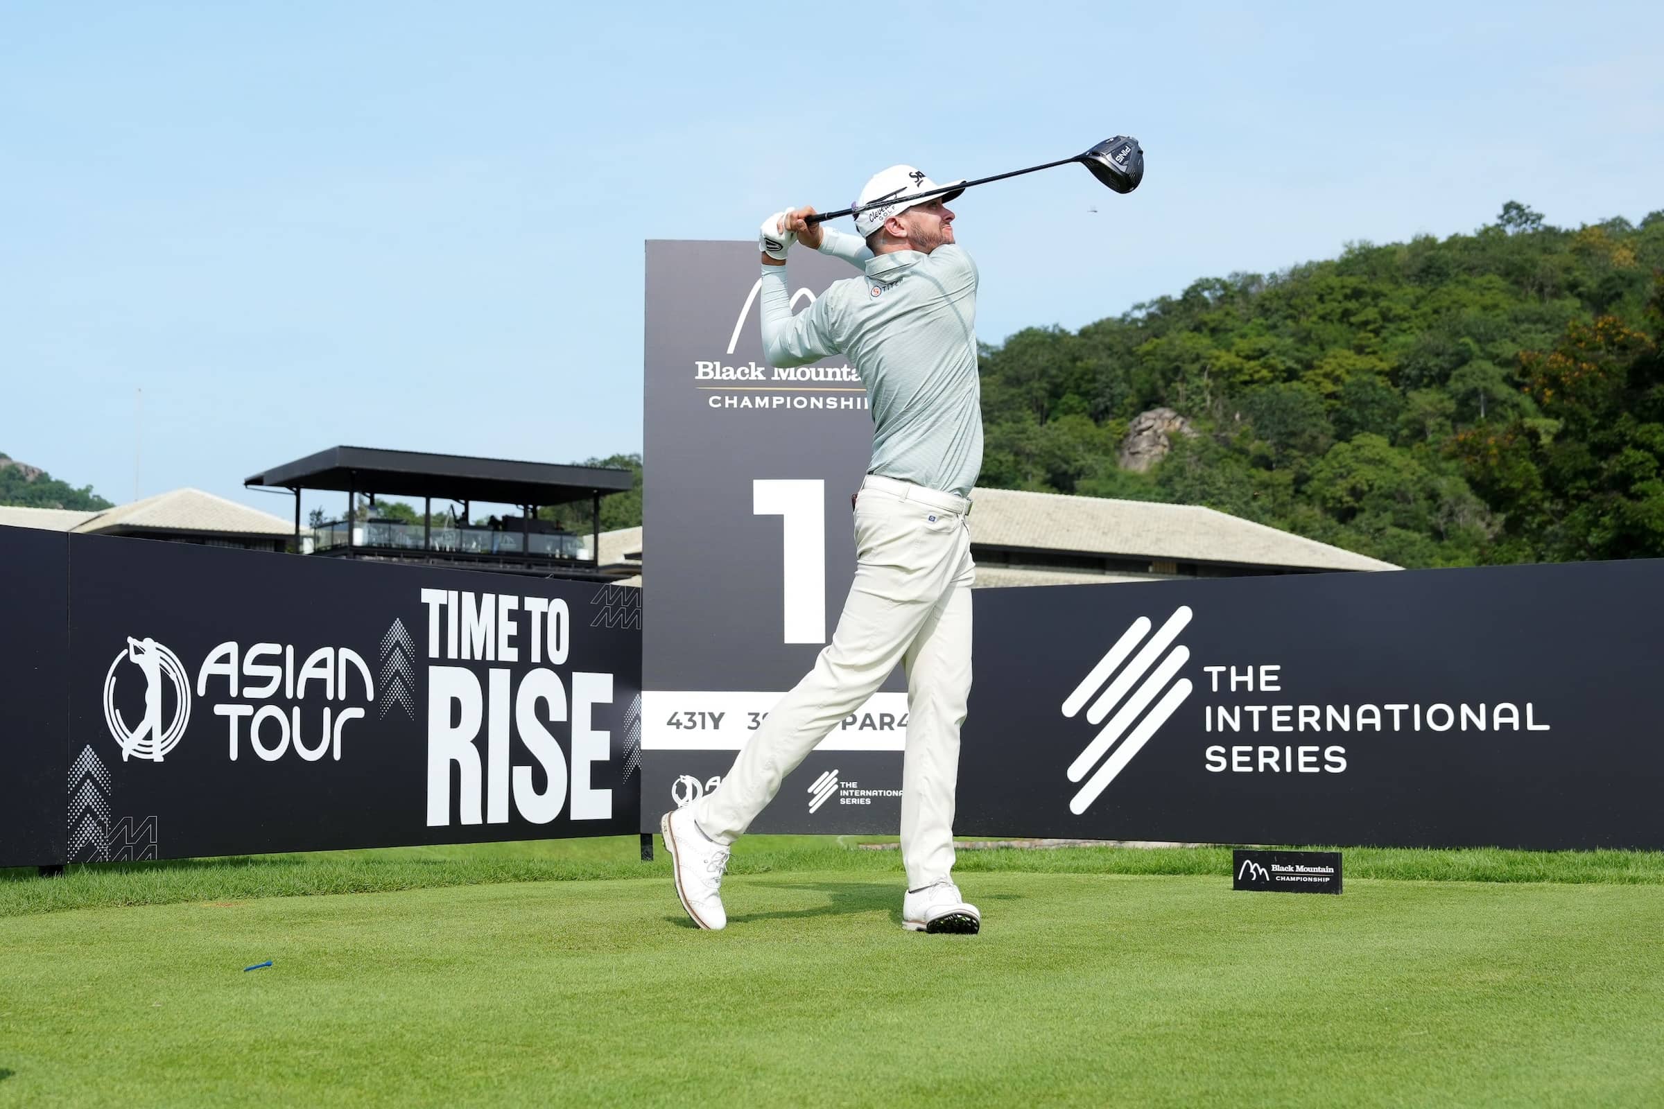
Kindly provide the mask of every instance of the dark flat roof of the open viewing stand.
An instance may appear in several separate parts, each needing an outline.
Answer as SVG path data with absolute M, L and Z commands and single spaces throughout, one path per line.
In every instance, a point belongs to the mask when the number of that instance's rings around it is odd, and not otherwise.
M 273 466 L 243 485 L 353 489 L 396 497 L 441 497 L 493 504 L 566 504 L 631 489 L 634 476 L 611 466 L 556 466 L 476 459 L 426 451 L 329 447 Z

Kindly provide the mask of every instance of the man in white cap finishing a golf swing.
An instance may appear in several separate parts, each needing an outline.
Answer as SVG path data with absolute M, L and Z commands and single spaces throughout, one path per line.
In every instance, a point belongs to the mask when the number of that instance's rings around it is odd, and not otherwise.
M 958 181 L 953 181 L 958 185 Z M 854 499 L 855 582 L 832 643 L 769 713 L 722 785 L 659 823 L 676 895 L 701 928 L 722 928 L 722 871 L 785 778 L 895 663 L 907 668 L 902 770 L 902 924 L 975 933 L 982 914 L 953 885 L 953 788 L 958 730 L 970 697 L 970 490 L 982 469 L 977 382 L 977 266 L 953 241 L 938 188 L 912 166 L 890 166 L 860 190 L 860 238 L 797 208 L 762 223 L 762 349 L 772 366 L 844 354 L 872 404 L 872 462 Z M 865 241 L 864 241 L 865 239 Z M 794 241 L 862 269 L 792 316 L 785 254 Z

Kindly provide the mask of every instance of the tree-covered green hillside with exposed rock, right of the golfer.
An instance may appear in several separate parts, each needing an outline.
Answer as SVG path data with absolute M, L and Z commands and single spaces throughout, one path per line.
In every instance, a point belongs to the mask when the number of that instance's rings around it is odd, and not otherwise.
M 1564 229 L 1509 203 L 1020 331 L 982 354 L 980 484 L 1205 504 L 1406 567 L 1664 555 L 1661 271 L 1664 211 Z M 1123 467 L 1158 407 L 1170 452 Z

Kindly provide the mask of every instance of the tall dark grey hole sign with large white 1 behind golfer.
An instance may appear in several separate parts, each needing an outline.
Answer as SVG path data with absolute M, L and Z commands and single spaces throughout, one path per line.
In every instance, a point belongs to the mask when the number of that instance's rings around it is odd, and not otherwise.
M 755 243 L 651 241 L 646 264 L 652 580 L 642 738 L 649 778 L 662 785 L 692 753 L 712 755 L 701 765 L 721 763 L 709 773 L 726 773 L 759 718 L 829 642 L 855 574 L 850 494 L 872 457 L 872 412 L 842 356 L 765 364 Z M 859 274 L 812 249 L 792 251 L 794 309 Z M 855 752 L 864 788 L 900 790 L 902 690 L 897 672 L 850 723 L 869 742 Z M 884 742 L 885 750 L 872 750 Z M 842 770 L 839 762 L 805 770 Z M 899 806 L 877 805 L 839 806 L 844 823 L 825 828 L 832 801 L 810 815 L 784 800 L 800 776 L 759 830 L 895 831 Z M 652 781 L 646 790 L 642 831 L 654 831 L 662 790 Z

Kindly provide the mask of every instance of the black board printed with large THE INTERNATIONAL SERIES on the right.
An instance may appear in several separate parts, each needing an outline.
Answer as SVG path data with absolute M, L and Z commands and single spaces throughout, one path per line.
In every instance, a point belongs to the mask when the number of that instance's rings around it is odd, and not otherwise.
M 978 835 L 1661 848 L 1664 562 L 977 594 Z

